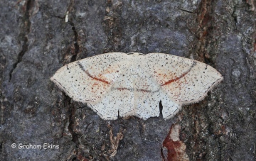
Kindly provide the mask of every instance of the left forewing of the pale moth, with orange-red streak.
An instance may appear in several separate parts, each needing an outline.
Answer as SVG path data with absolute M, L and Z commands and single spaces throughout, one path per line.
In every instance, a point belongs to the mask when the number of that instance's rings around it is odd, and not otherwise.
M 60 68 L 50 79 L 75 101 L 102 99 L 127 65 L 127 54 L 111 52 L 78 60 Z

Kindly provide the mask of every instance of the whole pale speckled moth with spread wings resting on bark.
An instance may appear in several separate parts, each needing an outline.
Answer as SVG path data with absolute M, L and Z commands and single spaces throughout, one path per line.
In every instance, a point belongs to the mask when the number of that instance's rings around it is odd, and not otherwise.
M 162 53 L 112 52 L 61 67 L 50 78 L 75 101 L 105 120 L 138 116 L 171 118 L 183 104 L 206 97 L 223 80 L 213 67 Z

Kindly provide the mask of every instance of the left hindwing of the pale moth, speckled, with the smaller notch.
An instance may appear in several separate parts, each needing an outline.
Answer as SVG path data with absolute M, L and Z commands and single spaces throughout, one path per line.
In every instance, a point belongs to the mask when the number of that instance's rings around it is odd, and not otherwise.
M 102 119 L 115 120 L 134 115 L 134 90 L 129 67 L 126 67 L 102 101 L 90 104 Z

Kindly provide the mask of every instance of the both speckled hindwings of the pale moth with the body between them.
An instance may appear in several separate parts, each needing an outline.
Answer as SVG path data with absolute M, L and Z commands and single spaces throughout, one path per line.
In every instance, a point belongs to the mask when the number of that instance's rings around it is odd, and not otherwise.
M 159 101 L 162 101 L 164 119 L 174 116 L 181 108 L 161 89 L 156 80 L 141 67 L 142 62 L 131 58 L 124 72 L 112 84 L 102 101 L 90 104 L 90 107 L 102 119 L 115 120 L 119 117 L 138 116 L 146 120 L 159 116 Z

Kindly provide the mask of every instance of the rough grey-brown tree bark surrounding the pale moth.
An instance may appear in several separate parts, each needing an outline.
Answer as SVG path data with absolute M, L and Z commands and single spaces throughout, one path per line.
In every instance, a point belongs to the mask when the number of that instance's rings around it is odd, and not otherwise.
M 256 160 L 255 4 L 1 0 L 0 160 L 167 160 L 162 143 L 174 123 L 189 160 Z M 106 52 L 188 57 L 215 67 L 224 80 L 167 121 L 104 121 L 50 77 Z M 123 134 L 114 157 L 108 124 Z M 43 143 L 59 148 L 18 148 Z

